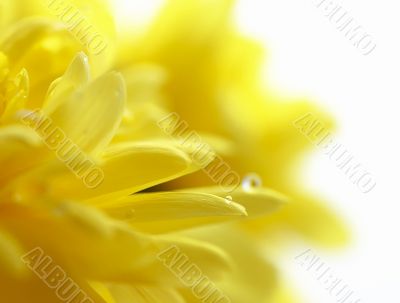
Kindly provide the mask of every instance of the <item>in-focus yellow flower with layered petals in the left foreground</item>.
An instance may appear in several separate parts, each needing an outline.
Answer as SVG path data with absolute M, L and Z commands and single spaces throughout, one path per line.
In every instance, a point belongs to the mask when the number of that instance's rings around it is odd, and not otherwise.
M 41 42 L 36 42 L 39 49 Z M 179 281 L 156 258 L 172 244 L 209 278 L 221 278 L 230 266 L 225 252 L 206 242 L 157 234 L 239 219 L 246 215 L 245 209 L 207 193 L 131 195 L 199 167 L 185 150 L 167 139 L 113 143 L 125 109 L 124 81 L 117 73 L 91 80 L 88 58 L 83 54 L 42 93 L 46 95 L 43 104 L 38 104 L 40 99 L 30 103 L 27 73 L 22 73 L 24 81 L 14 80 L 10 74 L 15 68 L 5 53 L 12 53 L 13 43 L 13 37 L 5 39 L 2 47 L 8 50 L 2 54 L 2 91 L 9 83 L 15 86 L 15 93 L 4 94 L 2 99 L 5 110 L 0 129 L 4 168 L 0 177 L 0 264 L 7 269 L 0 276 L 6 288 L 2 298 L 7 302 L 55 300 L 53 289 L 21 267 L 20 256 L 34 247 L 51 256 L 96 302 L 124 302 L 127 298 L 147 302 L 154 297 L 160 302 L 170 297 L 180 300 Z M 15 96 L 22 97 L 21 106 L 13 106 Z M 41 106 L 48 118 L 45 122 L 35 116 L 33 105 Z M 22 125 L 21 118 L 28 125 Z M 62 130 L 63 139 L 55 137 L 55 127 Z M 81 153 L 62 153 L 60 146 L 66 138 Z M 90 156 L 104 172 L 105 179 L 96 188 L 87 188 L 68 169 L 79 165 L 74 161 L 82 154 Z M 270 204 L 277 203 L 271 197 Z M 270 204 L 265 205 L 266 211 Z M 114 299 L 108 298 L 104 289 L 109 289 L 108 296 Z

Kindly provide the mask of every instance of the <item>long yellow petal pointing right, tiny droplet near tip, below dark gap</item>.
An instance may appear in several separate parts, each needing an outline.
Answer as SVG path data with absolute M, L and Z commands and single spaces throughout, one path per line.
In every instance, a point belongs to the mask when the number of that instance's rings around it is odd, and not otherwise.
M 246 216 L 244 207 L 235 202 L 190 192 L 134 194 L 100 207 L 111 216 L 128 221 L 135 229 L 156 233 Z

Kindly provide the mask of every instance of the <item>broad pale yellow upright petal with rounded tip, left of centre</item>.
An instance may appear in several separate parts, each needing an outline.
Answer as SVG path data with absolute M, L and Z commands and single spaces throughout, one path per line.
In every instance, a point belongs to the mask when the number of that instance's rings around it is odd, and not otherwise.
M 67 72 L 66 80 L 75 74 L 76 65 L 85 64 L 79 56 Z M 84 70 L 83 67 L 77 68 Z M 64 85 L 62 81 L 60 85 Z M 87 154 L 103 150 L 114 136 L 125 105 L 124 80 L 118 73 L 106 74 L 87 87 L 70 95 L 55 109 L 45 111 L 52 124 L 60 128 L 73 143 Z M 51 106 L 51 104 L 49 104 Z

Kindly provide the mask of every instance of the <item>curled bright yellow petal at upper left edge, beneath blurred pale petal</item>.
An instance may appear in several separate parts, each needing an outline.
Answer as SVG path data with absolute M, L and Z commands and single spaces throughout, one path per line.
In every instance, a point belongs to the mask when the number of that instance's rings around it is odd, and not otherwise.
M 25 68 L 30 76 L 28 107 L 40 107 L 50 83 L 68 67 L 82 50 L 79 42 L 59 23 L 43 19 L 22 20 L 0 36 L 0 48 L 16 74 Z M 46 71 L 43 71 L 46 66 Z

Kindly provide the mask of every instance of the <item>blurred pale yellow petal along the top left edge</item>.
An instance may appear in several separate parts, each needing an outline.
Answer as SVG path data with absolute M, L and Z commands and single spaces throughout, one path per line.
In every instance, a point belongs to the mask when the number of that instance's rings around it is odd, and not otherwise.
M 70 49 L 66 47 L 67 44 L 65 43 L 70 40 L 75 44 L 75 52 L 82 50 L 91 54 L 90 61 L 93 64 L 96 76 L 106 71 L 112 64 L 116 32 L 111 1 L 19 0 L 18 5 L 15 6 L 14 15 L 12 16 L 14 21 L 39 17 L 51 24 L 55 24 L 58 28 L 68 29 L 68 37 L 65 37 L 64 41 L 59 44 L 59 46 L 63 45 L 61 50 L 64 55 L 65 53 L 71 54 L 68 52 Z M 96 35 L 99 35 L 102 41 L 104 40 L 102 44 L 106 45 L 105 48 L 95 49 L 96 44 L 99 43 L 99 38 L 93 39 Z M 89 44 L 92 39 L 95 42 Z M 51 54 L 53 58 L 54 56 L 59 56 L 62 61 L 66 59 L 61 53 L 51 52 Z M 72 55 L 74 54 L 72 53 Z M 48 58 L 48 60 L 50 59 L 54 62 L 53 58 Z M 67 64 L 70 59 L 72 57 L 67 58 Z

